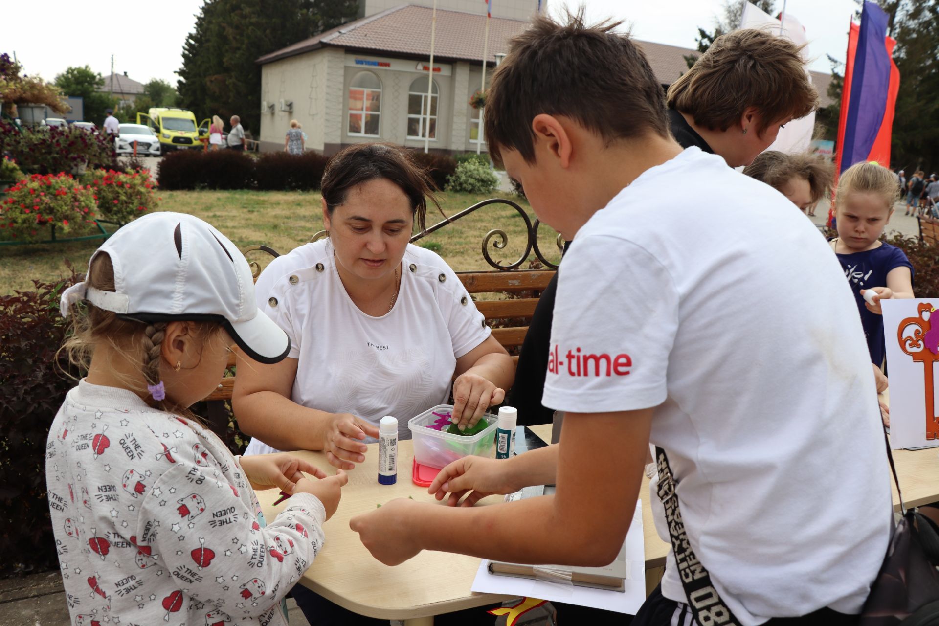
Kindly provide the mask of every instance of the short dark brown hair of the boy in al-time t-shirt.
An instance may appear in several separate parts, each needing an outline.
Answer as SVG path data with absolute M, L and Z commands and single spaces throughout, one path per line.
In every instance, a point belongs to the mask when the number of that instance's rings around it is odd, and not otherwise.
M 512 39 L 485 101 L 485 140 L 534 161 L 535 115 L 563 115 L 607 142 L 654 133 L 669 136 L 665 96 L 645 55 L 620 23 L 584 24 L 583 9 L 567 23 L 537 17 Z

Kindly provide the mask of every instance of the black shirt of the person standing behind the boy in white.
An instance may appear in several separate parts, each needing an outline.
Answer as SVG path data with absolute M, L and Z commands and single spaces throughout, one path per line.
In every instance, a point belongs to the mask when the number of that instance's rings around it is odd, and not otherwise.
M 669 109 L 669 127 L 675 141 L 683 148 L 697 145 L 701 150 L 714 154 L 700 134 L 691 128 L 685 117 L 675 109 Z M 565 244 L 564 252 L 570 242 Z M 561 269 L 559 268 L 560 272 Z M 531 324 L 525 334 L 522 352 L 516 367 L 516 382 L 509 391 L 506 405 L 518 409 L 519 425 L 547 424 L 554 420 L 554 409 L 541 404 L 545 392 L 547 359 L 551 351 L 551 320 L 554 318 L 554 298 L 558 292 L 558 274 L 548 282 L 531 316 Z

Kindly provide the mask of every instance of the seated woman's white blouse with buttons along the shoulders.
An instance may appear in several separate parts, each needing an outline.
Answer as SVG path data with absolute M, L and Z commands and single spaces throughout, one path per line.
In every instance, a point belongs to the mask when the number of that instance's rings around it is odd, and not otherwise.
M 393 309 L 373 317 L 346 293 L 328 239 L 270 262 L 254 292 L 299 359 L 291 400 L 376 425 L 391 415 L 403 439 L 410 418 L 447 402 L 456 359 L 491 331 L 439 255 L 408 244 L 402 267 Z M 274 451 L 254 438 L 246 454 Z

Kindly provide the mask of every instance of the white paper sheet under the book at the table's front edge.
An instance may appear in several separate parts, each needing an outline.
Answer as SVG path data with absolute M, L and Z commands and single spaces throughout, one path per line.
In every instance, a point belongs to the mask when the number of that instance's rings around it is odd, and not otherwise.
M 636 615 L 645 602 L 645 535 L 642 533 L 642 500 L 636 503 L 633 523 L 626 533 L 626 565 L 629 578 L 625 591 L 607 591 L 577 585 L 561 585 L 517 576 L 497 576 L 488 571 L 489 561 L 483 559 L 472 583 L 477 593 L 538 598 L 560 603 L 592 606 L 593 608 Z

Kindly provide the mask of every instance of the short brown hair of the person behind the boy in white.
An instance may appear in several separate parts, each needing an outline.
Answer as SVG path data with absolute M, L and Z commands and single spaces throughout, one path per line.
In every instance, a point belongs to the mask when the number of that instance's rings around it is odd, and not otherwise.
M 671 84 L 668 105 L 708 130 L 728 130 L 747 107 L 756 107 L 762 136 L 770 124 L 805 117 L 818 106 L 803 48 L 756 29 L 721 35 Z

